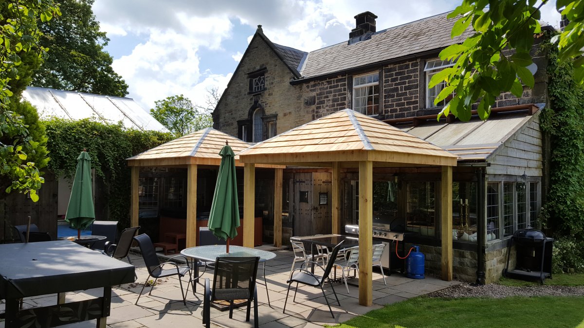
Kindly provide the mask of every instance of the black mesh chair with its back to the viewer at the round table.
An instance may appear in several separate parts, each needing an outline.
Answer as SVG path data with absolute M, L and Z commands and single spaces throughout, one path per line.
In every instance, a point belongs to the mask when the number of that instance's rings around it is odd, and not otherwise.
M 229 318 L 233 318 L 233 308 L 236 300 L 248 303 L 245 321 L 249 321 L 249 312 L 253 301 L 253 325 L 258 327 L 258 290 L 256 275 L 258 274 L 259 257 L 217 257 L 213 288 L 209 278 L 205 278 L 205 294 L 203 299 L 203 324 L 211 326 L 211 302 L 229 302 Z

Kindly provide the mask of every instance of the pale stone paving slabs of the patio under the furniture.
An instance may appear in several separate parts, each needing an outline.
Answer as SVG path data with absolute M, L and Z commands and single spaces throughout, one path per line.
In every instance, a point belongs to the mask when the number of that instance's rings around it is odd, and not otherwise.
M 340 306 L 335 302 L 335 296 L 329 284 L 325 284 L 326 295 L 334 319 L 326 306 L 322 292 L 318 288 L 298 287 L 296 303 L 293 302 L 294 290 L 291 289 L 286 305 L 286 313 L 282 313 L 288 285 L 286 280 L 290 272 L 293 253 L 289 250 L 273 250 L 276 258 L 266 263 L 267 289 L 269 289 L 271 308 L 267 304 L 266 288 L 258 284 L 258 312 L 259 326 L 264 328 L 279 327 L 318 327 L 324 324 L 334 325 L 344 322 L 354 316 L 362 315 L 373 309 L 382 308 L 385 304 L 391 304 L 418 295 L 437 291 L 457 281 L 442 281 L 433 277 L 423 280 L 406 278 L 401 274 L 386 276 L 387 285 L 379 271 L 373 271 L 373 305 L 359 305 L 359 287 L 349 285 L 349 292 L 344 284 L 334 284 Z M 112 288 L 112 310 L 107 318 L 107 327 L 111 328 L 138 328 L 138 327 L 202 327 L 201 312 L 203 310 L 201 285 L 197 285 L 197 293 L 193 295 L 192 288 L 187 294 L 187 305 L 182 302 L 180 287 L 177 278 L 165 278 L 158 280 L 157 285 L 148 295 L 150 287 L 144 288 L 138 305 L 134 305 L 142 284 L 148 277 L 148 271 L 144 267 L 144 261 L 140 255 L 131 254 L 133 264 L 136 266 L 138 279 L 133 284 L 125 284 Z M 260 267 L 262 264 L 260 264 Z M 299 264 L 297 264 L 299 266 Z M 261 270 L 258 271 L 258 279 Z M 207 271 L 203 278 L 213 278 Z M 352 280 L 358 284 L 358 279 Z M 186 288 L 186 278 L 183 278 L 183 287 Z M 89 289 L 82 292 L 68 292 L 67 302 L 93 298 L 99 296 L 101 289 Z M 42 306 L 54 304 L 56 295 L 48 295 L 25 299 L 26 306 Z M 245 307 L 235 309 L 233 319 L 229 319 L 229 311 L 221 312 L 211 309 L 211 326 L 214 327 L 253 327 L 253 309 L 250 322 L 245 322 Z M 0 303 L 0 311 L 4 311 L 4 303 Z M 61 327 L 95 327 L 96 320 L 68 324 Z M 0 321 L 0 328 L 4 328 L 4 321 Z

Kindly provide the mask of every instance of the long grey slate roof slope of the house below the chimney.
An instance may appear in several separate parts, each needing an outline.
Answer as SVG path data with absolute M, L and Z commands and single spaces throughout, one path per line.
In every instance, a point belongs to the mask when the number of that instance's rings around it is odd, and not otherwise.
M 407 55 L 437 50 L 463 42 L 472 34 L 466 32 L 450 39 L 456 19 L 447 19 L 448 13 L 390 27 L 374 33 L 371 39 L 354 44 L 347 41 L 311 51 L 300 69 L 303 78 L 330 74 L 345 69 L 361 67 L 380 61 L 393 60 Z

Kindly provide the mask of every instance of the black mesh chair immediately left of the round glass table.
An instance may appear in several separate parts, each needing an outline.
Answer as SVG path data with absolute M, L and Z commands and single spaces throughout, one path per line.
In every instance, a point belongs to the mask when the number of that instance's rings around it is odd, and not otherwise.
M 179 266 L 178 264 L 176 264 L 175 262 L 172 261 L 172 259 L 175 259 L 176 257 L 182 257 L 185 260 L 185 263 L 187 262 L 187 259 L 185 256 L 182 255 L 177 255 L 177 256 L 173 256 L 170 259 L 168 259 L 168 261 L 166 261 L 165 263 L 160 264 L 160 261 L 158 260 L 158 256 L 155 252 L 154 249 L 154 245 L 152 245 L 152 240 L 150 239 L 150 237 L 148 235 L 146 235 L 145 233 L 142 233 L 141 235 L 135 236 L 134 240 L 136 240 L 138 242 L 138 246 L 140 247 L 140 252 L 142 252 L 142 258 L 144 258 L 144 264 L 146 264 L 146 268 L 148 269 L 148 278 L 146 278 L 146 281 L 144 282 L 144 286 L 142 286 L 142 290 L 140 291 L 140 294 L 138 295 L 138 299 L 136 299 L 136 304 L 138 304 L 138 301 L 140 301 L 140 296 L 142 295 L 142 292 L 144 291 L 144 287 L 146 287 L 146 284 L 148 282 L 148 280 L 150 279 L 150 277 L 154 277 L 154 283 L 152 284 L 152 287 L 150 288 L 150 292 L 148 293 L 148 295 L 150 295 L 152 293 L 152 289 L 154 288 L 154 285 L 156 284 L 156 281 L 158 280 L 158 278 L 164 278 L 164 277 L 172 277 L 173 275 L 178 275 L 178 280 L 179 280 L 179 284 L 180 284 L 180 292 L 182 293 L 183 296 L 183 303 L 185 303 L 186 305 L 186 293 L 183 292 L 183 288 L 182 288 L 182 280 L 180 280 L 181 277 L 185 277 L 185 275 L 188 273 L 189 274 L 189 281 L 192 280 L 192 276 L 190 273 L 190 267 L 187 266 Z M 165 266 L 174 266 L 172 268 L 164 268 Z M 189 291 L 189 284 L 187 284 L 187 292 Z

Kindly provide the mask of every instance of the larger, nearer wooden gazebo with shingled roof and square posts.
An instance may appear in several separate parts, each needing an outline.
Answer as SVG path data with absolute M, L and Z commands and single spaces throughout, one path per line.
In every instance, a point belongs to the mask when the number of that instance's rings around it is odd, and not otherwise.
M 332 168 L 332 232 L 339 232 L 340 168 L 359 168 L 359 303 L 372 303 L 373 168 L 442 167 L 442 204 L 452 203 L 457 156 L 376 118 L 345 109 L 301 125 L 239 153 L 244 166 L 244 220 L 253 218 L 255 165 Z M 275 221 L 275 220 L 274 220 Z M 275 224 L 275 223 L 274 223 Z M 253 231 L 244 225 L 244 246 Z M 452 280 L 452 209 L 442 206 L 442 279 Z

